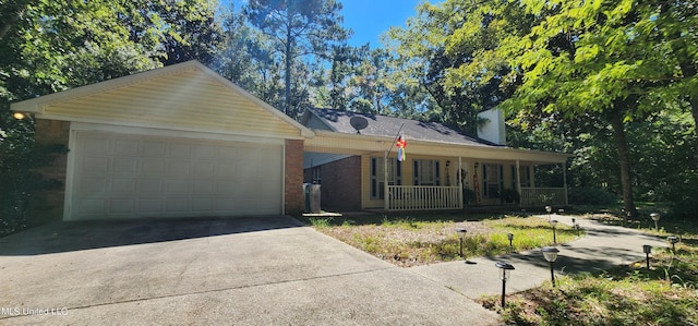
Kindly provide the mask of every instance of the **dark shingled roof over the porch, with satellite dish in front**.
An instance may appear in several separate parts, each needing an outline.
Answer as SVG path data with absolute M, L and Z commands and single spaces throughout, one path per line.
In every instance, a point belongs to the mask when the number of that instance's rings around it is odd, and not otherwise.
M 408 142 L 409 140 L 419 140 L 444 144 L 502 147 L 502 145 L 468 135 L 438 122 L 423 122 L 333 109 L 309 109 L 303 116 L 301 123 L 309 128 L 316 128 L 316 124 L 312 124 L 311 116 L 320 119 L 326 126 L 326 130 L 339 133 L 356 134 L 357 130 L 351 126 L 350 120 L 352 117 L 363 117 L 369 122 L 369 125 L 360 131 L 362 135 L 395 137 L 397 133 L 400 132 Z M 401 131 L 400 126 L 402 126 Z

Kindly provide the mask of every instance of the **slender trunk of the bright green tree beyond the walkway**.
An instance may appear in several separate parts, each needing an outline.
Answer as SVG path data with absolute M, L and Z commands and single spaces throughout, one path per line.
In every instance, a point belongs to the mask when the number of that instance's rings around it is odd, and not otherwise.
M 621 186 L 623 189 L 623 224 L 627 226 L 629 216 L 636 215 L 635 201 L 633 200 L 633 183 L 630 181 L 630 150 L 625 136 L 625 125 L 621 112 L 612 114 L 611 126 L 615 134 L 616 149 L 618 150 L 618 164 L 621 165 Z

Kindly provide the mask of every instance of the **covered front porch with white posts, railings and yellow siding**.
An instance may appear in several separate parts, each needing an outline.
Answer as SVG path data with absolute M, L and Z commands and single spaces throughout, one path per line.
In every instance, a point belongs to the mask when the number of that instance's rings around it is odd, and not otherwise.
M 305 142 L 304 150 L 358 157 L 361 209 L 567 205 L 566 180 L 558 188 L 540 188 L 534 180 L 537 168 L 557 165 L 566 170 L 567 154 L 413 140 L 409 141 L 407 159 L 398 162 L 395 148 L 390 150 L 393 140 L 316 131 L 315 137 Z M 326 169 L 322 173 L 326 174 Z M 516 198 L 508 202 L 505 195 L 513 193 Z

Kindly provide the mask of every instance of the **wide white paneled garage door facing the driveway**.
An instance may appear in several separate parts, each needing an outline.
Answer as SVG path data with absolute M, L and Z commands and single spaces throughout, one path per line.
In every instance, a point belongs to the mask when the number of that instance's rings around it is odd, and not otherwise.
M 76 132 L 68 219 L 277 215 L 282 148 Z

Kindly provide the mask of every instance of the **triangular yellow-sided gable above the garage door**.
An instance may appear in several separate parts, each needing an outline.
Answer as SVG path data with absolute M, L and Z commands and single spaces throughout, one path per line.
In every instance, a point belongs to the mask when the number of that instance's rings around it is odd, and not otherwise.
M 192 60 L 27 99 L 38 119 L 304 138 L 304 125 Z

